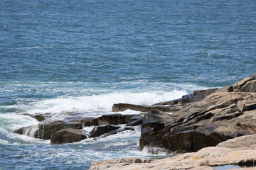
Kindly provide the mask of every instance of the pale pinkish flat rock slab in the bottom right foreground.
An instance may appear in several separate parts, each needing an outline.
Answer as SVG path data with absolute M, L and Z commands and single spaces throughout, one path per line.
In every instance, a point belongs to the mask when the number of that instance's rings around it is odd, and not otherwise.
M 247 165 L 252 166 L 256 162 L 256 147 L 243 147 L 231 149 L 227 147 L 206 147 L 198 152 L 181 154 L 165 159 L 114 159 L 101 162 L 93 162 L 90 169 L 108 170 L 135 170 L 135 169 L 213 169 L 215 166 Z M 242 167 L 241 167 L 242 168 Z M 252 169 L 255 169 L 252 168 Z

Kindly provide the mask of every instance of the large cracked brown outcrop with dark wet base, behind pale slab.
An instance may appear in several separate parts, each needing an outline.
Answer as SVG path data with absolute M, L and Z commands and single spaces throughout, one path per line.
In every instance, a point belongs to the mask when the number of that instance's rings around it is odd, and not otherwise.
M 165 147 L 171 151 L 196 152 L 234 137 L 255 134 L 256 93 L 251 85 L 254 82 L 253 78 L 247 78 L 235 87 L 220 90 L 227 92 L 196 91 L 194 97 L 199 95 L 203 99 L 193 101 L 193 97 L 191 103 L 171 115 L 159 111 L 145 114 L 140 148 Z M 250 84 L 250 88 L 246 84 Z M 228 92 L 231 89 L 235 91 Z

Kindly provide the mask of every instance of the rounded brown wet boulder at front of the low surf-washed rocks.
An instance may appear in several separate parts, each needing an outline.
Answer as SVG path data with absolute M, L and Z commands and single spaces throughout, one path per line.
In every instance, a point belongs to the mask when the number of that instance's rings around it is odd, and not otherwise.
M 59 130 L 58 132 L 53 132 L 53 134 L 50 136 L 50 143 L 73 143 L 80 142 L 81 140 L 85 140 L 86 138 L 87 136 L 82 134 L 82 130 L 68 128 L 64 130 Z

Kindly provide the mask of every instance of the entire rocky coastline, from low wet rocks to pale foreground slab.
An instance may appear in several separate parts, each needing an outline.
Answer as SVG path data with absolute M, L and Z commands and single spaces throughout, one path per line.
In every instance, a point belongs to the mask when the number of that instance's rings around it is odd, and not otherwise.
M 120 114 L 127 109 L 141 114 Z M 157 160 L 131 158 L 94 162 L 90 169 L 256 166 L 256 73 L 232 86 L 194 91 L 152 106 L 117 103 L 112 111 L 118 113 L 53 122 L 48 121 L 50 113 L 30 115 L 41 123 L 15 132 L 62 144 L 106 137 L 141 125 L 140 149 L 160 147 L 181 154 Z M 85 127 L 92 127 L 92 130 L 87 132 Z

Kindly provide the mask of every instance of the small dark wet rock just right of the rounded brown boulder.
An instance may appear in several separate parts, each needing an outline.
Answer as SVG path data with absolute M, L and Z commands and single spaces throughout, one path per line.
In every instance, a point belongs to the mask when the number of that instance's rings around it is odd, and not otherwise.
M 112 130 L 117 130 L 119 128 L 121 128 L 121 127 L 120 126 L 114 126 L 114 125 L 100 125 L 100 126 L 96 126 L 90 132 L 90 137 L 99 137 L 100 135 L 108 133 L 108 132 L 110 132 Z

